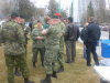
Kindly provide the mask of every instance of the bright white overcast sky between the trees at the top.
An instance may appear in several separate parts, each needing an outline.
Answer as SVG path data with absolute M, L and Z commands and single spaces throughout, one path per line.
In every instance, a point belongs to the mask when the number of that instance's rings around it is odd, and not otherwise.
M 38 8 L 45 8 L 48 4 L 50 0 L 31 0 Z M 72 1 L 74 1 L 74 20 L 78 20 L 78 0 L 56 0 L 58 3 L 61 2 L 61 8 L 65 9 L 67 13 L 69 13 Z

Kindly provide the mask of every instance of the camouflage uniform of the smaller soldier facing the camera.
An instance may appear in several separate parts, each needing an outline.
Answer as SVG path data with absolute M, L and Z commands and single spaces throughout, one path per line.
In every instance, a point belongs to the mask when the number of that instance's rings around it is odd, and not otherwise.
M 40 52 L 41 53 L 41 61 L 42 61 L 42 64 L 43 64 L 44 54 L 45 54 L 45 39 L 36 40 L 36 37 L 44 37 L 41 33 L 42 30 L 43 29 L 40 30 L 40 29 L 35 28 L 32 31 L 32 39 L 33 39 L 33 62 L 37 62 L 37 53 Z

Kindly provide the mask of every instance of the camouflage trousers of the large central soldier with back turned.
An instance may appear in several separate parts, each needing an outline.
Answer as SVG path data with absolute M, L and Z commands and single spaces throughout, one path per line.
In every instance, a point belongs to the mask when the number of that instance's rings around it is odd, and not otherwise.
M 46 49 L 44 55 L 44 69 L 46 74 L 53 74 L 53 71 L 57 72 L 59 70 L 58 52 L 59 49 Z

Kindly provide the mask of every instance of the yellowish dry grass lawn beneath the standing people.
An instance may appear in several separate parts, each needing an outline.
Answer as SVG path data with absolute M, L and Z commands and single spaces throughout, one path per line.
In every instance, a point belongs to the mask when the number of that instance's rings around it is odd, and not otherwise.
M 31 41 L 28 44 L 26 58 L 30 69 L 30 79 L 33 80 L 35 83 L 40 83 L 40 80 L 45 77 L 45 72 L 41 65 L 40 60 L 36 63 L 37 65 L 36 69 L 33 69 L 32 66 Z M 53 83 L 99 83 L 99 77 L 96 74 L 94 68 L 86 66 L 86 60 L 82 59 L 82 44 L 77 43 L 76 62 L 70 64 L 65 63 L 65 72 L 59 73 L 58 79 L 52 79 L 52 81 Z M 4 55 L 1 48 L 0 48 L 0 83 L 8 83 Z M 15 76 L 15 83 L 23 83 L 23 79 Z

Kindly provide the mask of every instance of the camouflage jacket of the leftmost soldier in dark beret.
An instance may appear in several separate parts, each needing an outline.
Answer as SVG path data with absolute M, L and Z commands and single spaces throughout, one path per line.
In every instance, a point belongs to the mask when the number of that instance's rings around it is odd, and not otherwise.
M 25 53 L 24 32 L 20 24 L 14 21 L 8 21 L 2 27 L 3 29 L 3 43 L 4 54 L 7 55 L 21 55 Z

